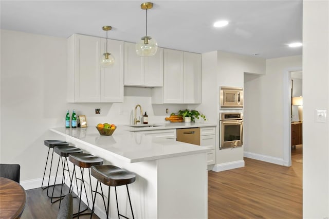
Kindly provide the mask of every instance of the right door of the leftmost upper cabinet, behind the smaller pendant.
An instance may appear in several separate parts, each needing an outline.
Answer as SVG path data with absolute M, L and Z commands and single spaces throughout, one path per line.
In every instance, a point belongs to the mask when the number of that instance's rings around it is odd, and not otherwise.
M 108 40 L 108 52 L 113 54 L 115 63 L 101 68 L 101 102 L 123 102 L 123 41 Z M 106 51 L 106 39 L 101 39 L 101 54 Z

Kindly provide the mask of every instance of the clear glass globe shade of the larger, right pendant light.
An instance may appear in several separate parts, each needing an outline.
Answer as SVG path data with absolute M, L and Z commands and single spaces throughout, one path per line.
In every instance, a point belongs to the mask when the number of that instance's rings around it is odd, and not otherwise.
M 135 48 L 138 56 L 154 56 L 158 50 L 158 43 L 156 40 L 152 39 L 151 36 L 143 36 L 143 38 L 136 43 Z

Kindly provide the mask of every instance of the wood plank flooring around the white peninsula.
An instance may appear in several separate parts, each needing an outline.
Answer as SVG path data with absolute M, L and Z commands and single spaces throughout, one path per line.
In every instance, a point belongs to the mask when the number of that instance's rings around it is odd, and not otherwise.
M 301 159 L 302 145 L 297 145 L 291 167 L 245 158 L 244 168 L 209 171 L 208 218 L 302 218 Z M 26 191 L 22 219 L 57 217 L 59 204 L 50 204 L 45 191 Z

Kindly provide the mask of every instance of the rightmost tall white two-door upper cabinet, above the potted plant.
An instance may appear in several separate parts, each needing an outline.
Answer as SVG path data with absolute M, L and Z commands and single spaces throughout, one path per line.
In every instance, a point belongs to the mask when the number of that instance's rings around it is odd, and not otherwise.
M 201 54 L 164 49 L 162 88 L 152 89 L 152 103 L 201 103 Z

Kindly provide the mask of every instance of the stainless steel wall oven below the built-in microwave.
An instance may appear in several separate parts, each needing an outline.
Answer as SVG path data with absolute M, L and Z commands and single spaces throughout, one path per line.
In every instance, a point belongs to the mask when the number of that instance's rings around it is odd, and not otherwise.
M 241 147 L 243 143 L 243 114 L 220 114 L 220 149 Z

